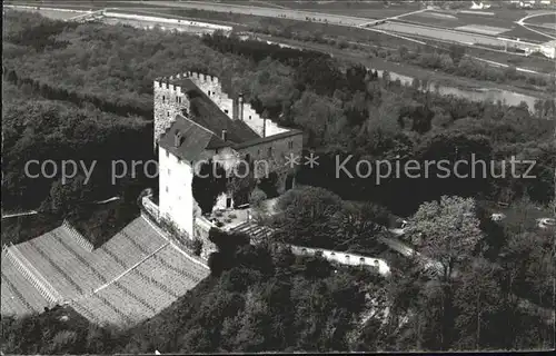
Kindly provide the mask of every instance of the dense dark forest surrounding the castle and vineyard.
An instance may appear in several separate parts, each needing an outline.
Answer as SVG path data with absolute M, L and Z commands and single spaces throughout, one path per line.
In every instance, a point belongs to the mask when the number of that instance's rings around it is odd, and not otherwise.
M 526 224 L 528 209 L 554 209 L 555 121 L 547 119 L 555 115 L 554 101 L 539 102 L 532 112 L 526 105 L 441 97 L 388 76 L 378 78 L 358 63 L 219 34 L 197 38 L 159 29 L 72 24 L 10 11 L 3 20 L 10 23 L 4 27 L 2 62 L 3 209 L 79 218 L 93 215 L 83 208 L 87 202 L 117 195 L 123 198 L 122 210 L 97 218 L 112 227 L 125 221 L 137 211 L 132 207 L 137 208 L 139 192 L 157 182 L 141 176 L 115 186 L 108 165 L 155 157 L 152 81 L 191 69 L 221 78 L 225 91 L 241 91 L 260 113 L 301 129 L 305 147 L 320 157 L 320 165 L 301 169 L 297 180 L 309 188 L 285 196 L 281 220 L 269 221 L 289 226 L 291 234 L 278 234 L 274 241 L 255 247 L 245 244 L 245 237 L 222 238 L 212 231 L 217 245 L 228 245 L 224 254 L 211 257 L 211 276 L 156 317 L 118 329 L 90 325 L 76 315 L 71 323 L 62 323 L 59 309 L 23 318 L 2 316 L 2 353 L 553 345 L 553 327 L 519 300 L 554 309 L 554 246 L 549 235 Z M 399 177 L 376 185 L 373 178 L 334 176 L 336 156 L 404 162 L 469 159 L 471 154 L 485 160 L 536 160 L 536 178 Z M 30 159 L 98 160 L 97 175 L 88 184 L 80 176 L 68 185 L 60 177 L 26 178 Z M 505 225 L 492 221 L 483 204 L 497 201 L 510 205 L 518 217 Z M 322 210 L 308 210 L 311 205 Z M 458 237 L 451 220 L 440 224 L 445 230 L 430 230 L 430 221 L 453 218 L 454 211 L 473 212 L 458 222 L 469 233 L 469 245 L 458 245 L 465 258 L 454 260 L 457 274 L 441 278 L 424 274 L 410 259 L 391 257 L 393 277 L 385 280 L 359 268 L 332 266 L 319 256 L 295 257 L 274 244 L 302 241 L 378 253 L 376 240 L 383 233 L 374 226 L 385 224 L 387 215 L 408 217 L 415 236 Z M 335 224 L 329 219 L 332 212 Z M 4 236 L 2 228 L 2 244 Z M 230 246 L 230 240 L 238 243 Z M 434 240 L 408 243 L 434 247 Z M 434 250 L 439 258 L 449 253 L 441 246 L 444 251 Z M 361 323 L 373 304 L 366 295 L 375 296 L 378 300 L 373 303 L 383 309 L 389 300 L 386 322 L 375 315 Z

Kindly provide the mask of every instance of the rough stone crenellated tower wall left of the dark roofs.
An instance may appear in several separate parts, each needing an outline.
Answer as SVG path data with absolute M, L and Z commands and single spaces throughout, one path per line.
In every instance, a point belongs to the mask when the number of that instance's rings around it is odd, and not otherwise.
M 181 110 L 189 112 L 189 99 L 179 86 L 156 80 L 155 88 L 155 147 Z

